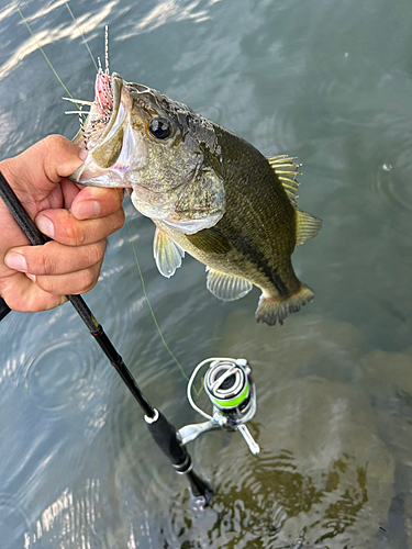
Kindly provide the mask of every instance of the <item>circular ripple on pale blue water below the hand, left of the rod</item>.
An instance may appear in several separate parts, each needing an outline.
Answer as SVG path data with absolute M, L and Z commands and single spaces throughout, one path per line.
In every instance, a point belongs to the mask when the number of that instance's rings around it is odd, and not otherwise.
M 91 346 L 80 346 L 75 336 L 46 345 L 27 360 L 25 388 L 42 410 L 82 410 L 93 396 L 92 365 Z

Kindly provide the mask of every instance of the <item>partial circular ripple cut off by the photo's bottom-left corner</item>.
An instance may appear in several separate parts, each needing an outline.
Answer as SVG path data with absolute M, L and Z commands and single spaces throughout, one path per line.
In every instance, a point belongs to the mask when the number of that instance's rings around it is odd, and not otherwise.
M 2 549 L 26 547 L 29 520 L 22 506 L 9 494 L 0 493 L 0 539 Z

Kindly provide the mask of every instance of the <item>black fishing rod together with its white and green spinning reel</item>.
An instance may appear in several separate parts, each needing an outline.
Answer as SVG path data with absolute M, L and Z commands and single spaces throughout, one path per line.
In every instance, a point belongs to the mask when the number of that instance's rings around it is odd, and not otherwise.
M 1 171 L 0 198 L 4 201 L 33 246 L 43 245 L 47 242 L 22 206 Z M 252 368 L 247 360 L 244 358 L 208 358 L 200 362 L 189 379 L 187 397 L 192 408 L 208 421 L 186 425 L 176 430 L 175 426 L 169 423 L 162 412 L 153 407 L 142 393 L 122 357 L 115 350 L 103 327 L 98 323 L 83 299 L 80 295 L 67 295 L 67 298 L 109 358 L 111 365 L 116 369 L 133 396 L 137 400 L 145 414 L 144 419 L 147 428 L 159 449 L 169 459 L 175 470 L 187 477 L 196 506 L 200 508 L 207 506 L 212 497 L 211 486 L 194 473 L 192 460 L 186 445 L 203 433 L 223 429 L 241 433 L 252 453 L 257 455 L 260 451 L 259 446 L 246 427 L 246 423 L 256 413 L 256 388 L 250 377 Z M 0 298 L 0 321 L 9 312 L 10 307 Z M 204 374 L 204 392 L 213 406 L 212 415 L 200 408 L 192 396 L 194 379 L 205 366 L 209 366 L 209 368 Z

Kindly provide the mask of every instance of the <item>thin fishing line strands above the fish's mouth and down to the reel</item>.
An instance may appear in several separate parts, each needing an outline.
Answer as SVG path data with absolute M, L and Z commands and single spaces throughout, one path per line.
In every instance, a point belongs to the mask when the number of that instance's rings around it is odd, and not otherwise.
M 46 55 L 46 54 L 45 54 L 45 52 L 43 51 L 43 48 L 42 48 L 42 46 L 41 46 L 40 42 L 38 42 L 38 41 L 37 41 L 37 38 L 35 37 L 35 35 L 34 35 L 34 33 L 33 33 L 32 29 L 30 27 L 30 25 L 29 25 L 29 23 L 27 23 L 26 19 L 24 18 L 24 15 L 23 15 L 22 11 L 20 10 L 20 8 L 19 8 L 19 5 L 18 5 L 18 3 L 16 3 L 16 1 L 15 1 L 15 0 L 13 0 L 13 4 L 14 4 L 14 8 L 15 8 L 15 10 L 18 11 L 19 15 L 21 16 L 21 19 L 22 19 L 23 23 L 24 23 L 24 24 L 25 24 L 25 26 L 27 27 L 27 30 L 29 30 L 30 34 L 32 35 L 33 40 L 34 40 L 34 41 L 35 41 L 35 43 L 37 44 L 38 49 L 42 52 L 42 54 L 43 54 L 44 58 L 46 59 L 46 61 L 47 61 L 48 66 L 49 66 L 49 67 L 51 67 L 51 69 L 53 70 L 53 74 L 55 75 L 55 77 L 57 78 L 57 80 L 59 81 L 59 83 L 63 86 L 63 88 L 65 89 L 66 93 L 67 93 L 67 94 L 68 94 L 71 99 L 74 99 L 74 97 L 71 96 L 71 93 L 69 92 L 69 90 L 68 90 L 68 89 L 66 88 L 66 86 L 63 83 L 63 81 L 62 81 L 60 77 L 58 76 L 58 74 L 57 74 L 56 69 L 53 67 L 53 65 L 52 65 L 51 60 L 48 59 L 47 55 Z M 88 49 L 88 52 L 89 52 L 89 54 L 90 54 L 90 57 L 91 57 L 91 59 L 92 59 L 92 61 L 93 61 L 93 64 L 94 64 L 94 67 L 96 67 L 97 71 L 98 71 L 99 69 L 98 69 L 98 66 L 97 66 L 97 64 L 96 64 L 96 60 L 94 60 L 94 58 L 93 58 L 93 56 L 92 56 L 92 53 L 91 53 L 91 51 L 90 51 L 90 47 L 89 47 L 89 45 L 87 44 L 86 38 L 85 38 L 85 35 L 83 35 L 83 33 L 82 33 L 81 29 L 79 27 L 79 25 L 77 24 L 76 18 L 75 18 L 75 15 L 74 15 L 73 11 L 70 10 L 70 8 L 69 8 L 69 5 L 68 5 L 68 3 L 67 3 L 67 2 L 66 2 L 66 8 L 67 8 L 67 10 L 69 11 L 69 13 L 70 13 L 70 15 L 71 15 L 73 20 L 75 21 L 76 26 L 77 26 L 77 29 L 78 29 L 78 31 L 79 31 L 79 33 L 80 33 L 80 35 L 81 35 L 82 42 L 83 42 L 83 44 L 86 45 L 86 47 L 87 47 L 87 49 Z M 108 63 L 108 52 L 107 52 L 107 51 L 108 51 L 108 32 L 105 31 L 105 65 L 107 65 L 107 70 L 108 70 L 108 69 L 109 69 L 109 63 Z M 79 112 L 81 113 L 81 109 L 79 108 L 79 105 L 78 105 L 76 102 L 75 102 L 75 104 L 76 104 L 76 107 L 79 109 Z M 82 113 L 81 113 L 81 114 L 82 114 Z M 83 114 L 82 114 L 82 115 L 83 115 Z M 83 117 L 85 117 L 85 115 L 83 115 Z M 86 120 L 86 119 L 85 119 L 85 120 Z M 109 167 L 109 166 L 108 166 L 108 167 Z M 118 193 L 118 197 L 119 197 L 118 189 L 115 189 L 115 188 L 114 188 L 114 190 L 115 190 L 115 192 Z M 125 220 L 125 222 L 126 222 L 126 226 L 127 226 L 129 235 L 132 237 L 132 231 L 131 231 L 131 227 L 130 227 L 129 221 L 127 221 L 127 220 Z M 165 340 L 165 337 L 164 337 L 164 335 L 163 335 L 163 333 L 162 333 L 160 326 L 158 325 L 158 322 L 157 322 L 157 320 L 156 320 L 156 316 L 155 316 L 155 313 L 154 313 L 154 311 L 153 311 L 152 304 L 151 304 L 151 302 L 149 302 L 149 300 L 148 300 L 148 296 L 147 296 L 147 293 L 146 293 L 146 287 L 145 287 L 145 282 L 144 282 L 144 278 L 143 278 L 142 269 L 141 269 L 141 266 L 140 266 L 140 262 L 138 262 L 138 259 L 137 259 L 137 254 L 136 254 L 136 249 L 135 249 L 135 247 L 134 247 L 134 243 L 133 243 L 133 240 L 131 240 L 131 244 L 132 244 L 134 258 L 135 258 L 135 261 L 136 261 L 136 265 L 137 265 L 137 269 L 138 269 L 138 276 L 140 276 L 140 278 L 141 278 L 141 282 L 142 282 L 143 295 L 144 295 L 144 298 L 145 298 L 145 300 L 146 300 L 146 303 L 147 303 L 147 306 L 148 306 L 148 309 L 149 309 L 149 312 L 151 312 L 151 315 L 152 315 L 153 322 L 155 323 L 155 326 L 156 326 L 156 329 L 157 329 L 157 332 L 158 332 L 158 334 L 159 334 L 159 336 L 160 336 L 162 343 L 163 343 L 163 345 L 165 346 L 165 348 L 166 348 L 167 352 L 170 355 L 170 357 L 172 358 L 172 360 L 174 360 L 174 361 L 176 362 L 176 365 L 178 366 L 178 368 L 179 368 L 179 370 L 180 370 L 180 372 L 181 372 L 182 377 L 185 378 L 185 380 L 186 380 L 186 381 L 189 381 L 189 378 L 186 376 L 185 370 L 183 370 L 182 366 L 180 365 L 179 360 L 175 357 L 175 355 L 174 355 L 174 352 L 171 351 L 170 347 L 167 345 L 167 343 L 166 343 L 166 340 Z M 199 395 L 199 394 L 200 394 L 200 392 L 202 391 L 202 388 L 200 388 L 200 391 L 199 391 L 199 392 L 198 392 L 196 389 L 194 389 L 194 391 L 196 391 L 196 393 Z

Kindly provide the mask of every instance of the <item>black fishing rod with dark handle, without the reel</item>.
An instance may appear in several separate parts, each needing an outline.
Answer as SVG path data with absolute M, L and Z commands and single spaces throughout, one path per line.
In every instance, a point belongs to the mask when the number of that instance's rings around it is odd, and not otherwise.
M 24 210 L 1 171 L 0 198 L 8 206 L 10 213 L 13 215 L 15 222 L 23 231 L 32 246 L 40 246 L 47 242 L 27 212 Z M 208 505 L 212 495 L 211 488 L 205 480 L 194 473 L 190 453 L 182 442 L 181 437 L 177 434 L 175 426 L 168 422 L 162 412 L 152 406 L 148 399 L 140 390 L 122 357 L 114 348 L 113 344 L 104 333 L 103 327 L 98 323 L 85 300 L 80 295 L 67 295 L 67 298 L 88 327 L 94 340 L 110 360 L 111 365 L 115 368 L 124 383 L 127 385 L 127 389 L 138 402 L 144 412 L 144 419 L 153 439 L 163 453 L 169 459 L 175 470 L 180 474 L 185 474 L 188 479 L 196 503 L 200 507 Z M 10 311 L 10 307 L 7 305 L 4 300 L 0 298 L 0 321 L 4 318 Z

